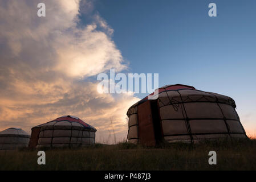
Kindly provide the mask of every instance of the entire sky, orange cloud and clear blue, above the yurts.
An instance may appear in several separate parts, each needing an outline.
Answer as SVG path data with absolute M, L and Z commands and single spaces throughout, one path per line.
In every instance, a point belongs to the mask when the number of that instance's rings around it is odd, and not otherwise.
M 46 17 L 37 16 L 45 3 Z M 209 3 L 217 16 L 209 17 Z M 237 104 L 256 135 L 253 0 L 0 0 L 0 130 L 75 115 L 96 142 L 127 137 L 129 106 L 147 94 L 100 94 L 96 77 L 159 73 L 159 86 L 192 85 Z M 115 135 L 113 135 L 113 129 Z

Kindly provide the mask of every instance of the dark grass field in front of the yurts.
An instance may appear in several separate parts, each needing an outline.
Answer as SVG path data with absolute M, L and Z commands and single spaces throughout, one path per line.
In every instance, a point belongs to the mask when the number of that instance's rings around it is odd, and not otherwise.
M 209 165 L 209 151 L 217 165 Z M 0 151 L 0 170 L 255 170 L 256 140 L 173 143 L 143 147 L 119 143 L 84 148 L 47 149 L 46 165 L 38 150 Z

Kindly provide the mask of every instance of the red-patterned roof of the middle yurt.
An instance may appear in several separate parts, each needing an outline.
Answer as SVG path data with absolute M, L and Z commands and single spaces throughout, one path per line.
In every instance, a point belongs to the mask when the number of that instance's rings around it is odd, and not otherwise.
M 72 116 L 72 115 L 63 115 L 62 117 L 56 118 L 52 121 L 43 123 L 43 124 L 35 126 L 35 127 L 40 127 L 42 125 L 46 125 L 47 123 L 51 123 L 51 122 L 64 122 L 64 121 L 68 121 L 68 122 L 71 122 L 71 123 L 72 122 L 80 123 L 86 129 L 90 129 L 90 130 L 95 131 L 95 132 L 97 131 L 95 129 L 95 127 L 93 127 L 93 126 L 89 125 L 88 123 L 82 121 L 82 119 L 79 119 L 78 117 L 75 117 L 75 116 Z

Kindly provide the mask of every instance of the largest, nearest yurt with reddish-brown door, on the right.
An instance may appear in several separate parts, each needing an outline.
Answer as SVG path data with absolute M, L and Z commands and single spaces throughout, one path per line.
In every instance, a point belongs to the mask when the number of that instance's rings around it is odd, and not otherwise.
M 129 143 L 247 138 L 232 98 L 181 84 L 163 86 L 158 93 L 128 109 Z

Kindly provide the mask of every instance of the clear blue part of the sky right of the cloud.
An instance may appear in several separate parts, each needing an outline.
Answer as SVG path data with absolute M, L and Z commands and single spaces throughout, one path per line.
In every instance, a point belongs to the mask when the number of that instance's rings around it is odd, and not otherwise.
M 217 17 L 208 16 L 211 2 Z M 254 115 L 256 1 L 97 0 L 94 6 L 113 28 L 127 72 L 159 73 L 159 86 L 226 94 L 240 115 Z

